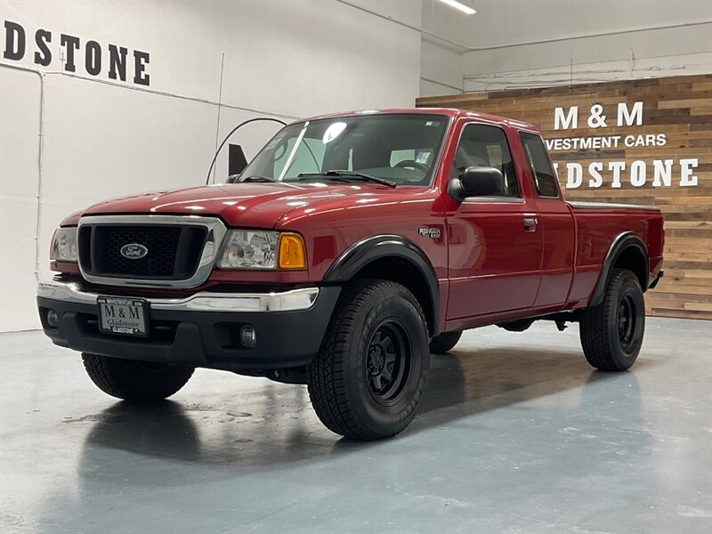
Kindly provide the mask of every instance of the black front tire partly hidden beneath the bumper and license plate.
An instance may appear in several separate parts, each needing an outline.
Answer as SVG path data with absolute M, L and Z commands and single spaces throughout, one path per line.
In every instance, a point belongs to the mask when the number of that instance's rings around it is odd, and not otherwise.
M 188 382 L 194 368 L 82 354 L 86 373 L 102 392 L 134 402 L 162 401 Z

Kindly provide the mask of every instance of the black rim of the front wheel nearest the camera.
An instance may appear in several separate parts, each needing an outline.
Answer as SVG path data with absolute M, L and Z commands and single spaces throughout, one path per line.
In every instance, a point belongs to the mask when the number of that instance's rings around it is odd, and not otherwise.
M 364 358 L 364 375 L 371 397 L 383 406 L 397 402 L 408 384 L 413 350 L 398 320 L 382 320 L 371 334 Z

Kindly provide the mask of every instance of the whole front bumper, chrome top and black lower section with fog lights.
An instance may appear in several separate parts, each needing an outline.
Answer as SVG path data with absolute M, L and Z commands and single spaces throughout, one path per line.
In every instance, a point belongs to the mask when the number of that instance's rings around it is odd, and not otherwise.
M 334 311 L 340 287 L 304 287 L 281 293 L 200 292 L 182 299 L 147 298 L 149 336 L 102 334 L 98 294 L 75 282 L 37 286 L 44 333 L 54 344 L 80 352 L 200 368 L 259 371 L 310 363 Z M 111 295 L 110 290 L 101 295 Z M 140 295 L 135 295 L 140 296 Z M 49 311 L 58 316 L 53 328 Z M 256 345 L 240 344 L 251 325 Z

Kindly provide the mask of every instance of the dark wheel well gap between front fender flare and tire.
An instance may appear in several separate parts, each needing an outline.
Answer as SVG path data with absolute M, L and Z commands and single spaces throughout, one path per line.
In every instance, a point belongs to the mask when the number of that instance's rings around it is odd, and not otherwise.
M 406 259 L 387 256 L 378 258 L 363 266 L 360 271 L 353 275 L 353 279 L 384 279 L 391 280 L 401 286 L 407 287 L 420 303 L 420 307 L 425 314 L 425 321 L 428 324 L 428 332 L 433 336 L 435 325 L 435 313 L 433 310 L 433 298 L 428 291 L 428 283 L 425 275 L 416 267 L 414 263 Z M 434 296 L 434 295 L 433 295 Z

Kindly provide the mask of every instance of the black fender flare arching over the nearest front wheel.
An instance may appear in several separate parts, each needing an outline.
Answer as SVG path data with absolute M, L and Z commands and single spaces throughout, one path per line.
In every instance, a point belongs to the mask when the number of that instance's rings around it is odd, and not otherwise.
M 410 239 L 399 235 L 383 234 L 360 239 L 348 247 L 324 275 L 326 283 L 343 283 L 351 280 L 368 263 L 385 257 L 397 257 L 412 263 L 426 281 L 432 310 L 431 336 L 440 333 L 440 286 L 433 263 L 423 250 Z

